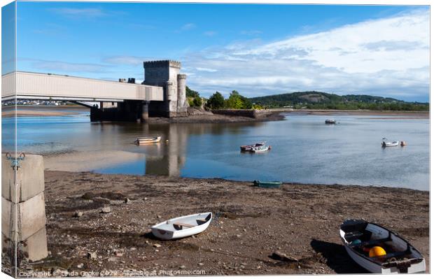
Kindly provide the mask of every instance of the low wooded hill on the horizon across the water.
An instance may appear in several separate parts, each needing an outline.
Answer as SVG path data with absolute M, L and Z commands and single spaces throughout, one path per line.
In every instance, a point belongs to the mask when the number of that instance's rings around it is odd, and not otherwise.
M 370 110 L 429 110 L 429 103 L 406 102 L 370 95 L 343 95 L 307 91 L 260 96 L 249 99 L 269 108 L 370 109 Z

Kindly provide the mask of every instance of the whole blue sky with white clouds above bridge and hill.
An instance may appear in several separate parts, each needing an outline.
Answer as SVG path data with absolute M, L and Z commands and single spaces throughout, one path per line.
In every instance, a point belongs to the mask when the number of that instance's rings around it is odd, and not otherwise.
M 182 63 L 210 96 L 295 91 L 429 98 L 428 6 L 18 2 L 17 69 L 144 80 Z

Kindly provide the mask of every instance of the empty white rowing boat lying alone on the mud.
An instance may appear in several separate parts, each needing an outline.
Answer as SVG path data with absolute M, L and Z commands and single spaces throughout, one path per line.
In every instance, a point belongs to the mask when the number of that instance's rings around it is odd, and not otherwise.
M 151 227 L 152 234 L 160 239 L 169 240 L 200 234 L 211 223 L 213 213 L 199 213 L 155 224 Z

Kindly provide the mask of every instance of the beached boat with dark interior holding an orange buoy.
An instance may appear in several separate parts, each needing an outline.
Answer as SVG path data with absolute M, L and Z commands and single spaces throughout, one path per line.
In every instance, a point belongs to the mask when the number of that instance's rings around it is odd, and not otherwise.
M 425 259 L 416 248 L 378 224 L 346 220 L 339 234 L 351 259 L 367 271 L 382 274 L 426 271 Z

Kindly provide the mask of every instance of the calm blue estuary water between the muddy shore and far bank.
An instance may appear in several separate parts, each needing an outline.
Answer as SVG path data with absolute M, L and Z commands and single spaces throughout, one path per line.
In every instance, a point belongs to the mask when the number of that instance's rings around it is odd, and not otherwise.
M 145 125 L 90 123 L 88 114 L 18 117 L 18 149 L 42 154 L 125 150 L 146 156 L 92 170 L 100 173 L 429 189 L 429 120 L 425 119 L 335 115 L 332 118 L 339 124 L 325 125 L 325 116 L 287 115 L 284 121 L 253 124 Z M 2 119 L 3 150 L 12 148 L 12 126 L 13 118 Z M 145 135 L 161 135 L 162 142 L 132 144 Z M 408 145 L 381 148 L 384 136 Z M 239 152 L 239 145 L 262 140 L 272 150 Z

